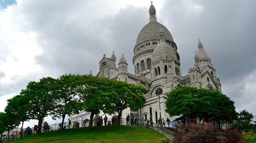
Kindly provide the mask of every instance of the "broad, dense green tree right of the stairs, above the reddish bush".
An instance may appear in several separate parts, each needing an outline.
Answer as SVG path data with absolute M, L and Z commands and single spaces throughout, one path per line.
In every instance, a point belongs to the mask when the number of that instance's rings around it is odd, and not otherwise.
M 232 122 L 236 119 L 234 102 L 219 91 L 186 86 L 177 87 L 169 93 L 165 103 L 165 111 L 170 116 L 198 117 L 204 119 L 205 122 Z

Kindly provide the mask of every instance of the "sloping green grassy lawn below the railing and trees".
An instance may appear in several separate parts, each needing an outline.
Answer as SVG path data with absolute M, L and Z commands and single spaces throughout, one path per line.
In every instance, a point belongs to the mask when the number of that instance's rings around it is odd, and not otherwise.
M 159 143 L 161 134 L 137 126 L 72 128 L 17 139 L 16 143 Z

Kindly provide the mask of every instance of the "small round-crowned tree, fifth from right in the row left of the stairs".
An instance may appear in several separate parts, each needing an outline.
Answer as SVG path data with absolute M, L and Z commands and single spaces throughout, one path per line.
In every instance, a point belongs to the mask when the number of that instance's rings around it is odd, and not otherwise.
M 15 97 L 7 100 L 7 106 L 5 107 L 5 112 L 13 115 L 13 118 L 16 118 L 22 122 L 20 137 L 22 137 L 22 130 L 24 121 L 28 121 L 30 116 L 28 114 L 30 106 L 28 105 L 28 100 L 21 95 L 16 95 Z

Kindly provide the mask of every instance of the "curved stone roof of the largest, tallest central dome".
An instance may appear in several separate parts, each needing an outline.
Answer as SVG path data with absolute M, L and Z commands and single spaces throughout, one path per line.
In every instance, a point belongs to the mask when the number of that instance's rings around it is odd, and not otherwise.
M 173 41 L 171 33 L 164 25 L 158 23 L 157 21 L 151 21 L 150 23 L 145 25 L 139 32 L 136 44 L 138 44 L 142 40 L 159 39 L 159 29 L 161 27 L 165 32 L 165 39 Z

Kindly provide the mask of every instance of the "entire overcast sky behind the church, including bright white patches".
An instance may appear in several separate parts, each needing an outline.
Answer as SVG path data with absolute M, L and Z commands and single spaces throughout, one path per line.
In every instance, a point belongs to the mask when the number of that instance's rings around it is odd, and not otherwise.
M 30 81 L 65 73 L 96 75 L 103 54 L 129 72 L 151 0 L 0 0 L 0 111 Z M 171 32 L 182 76 L 194 65 L 198 39 L 236 110 L 256 114 L 256 1 L 155 0 Z M 54 121 L 52 121 L 53 123 Z

